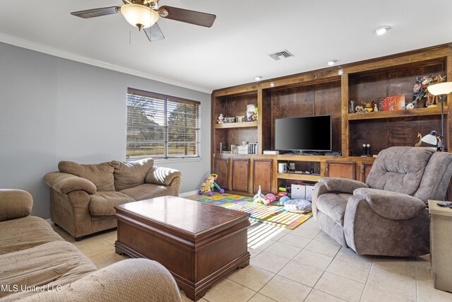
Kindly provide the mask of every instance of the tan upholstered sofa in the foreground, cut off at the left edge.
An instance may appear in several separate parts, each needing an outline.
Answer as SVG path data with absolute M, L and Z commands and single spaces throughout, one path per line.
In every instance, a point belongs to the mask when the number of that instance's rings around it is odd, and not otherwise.
M 97 270 L 44 219 L 32 196 L 0 190 L 0 301 L 181 301 L 159 263 L 128 259 Z

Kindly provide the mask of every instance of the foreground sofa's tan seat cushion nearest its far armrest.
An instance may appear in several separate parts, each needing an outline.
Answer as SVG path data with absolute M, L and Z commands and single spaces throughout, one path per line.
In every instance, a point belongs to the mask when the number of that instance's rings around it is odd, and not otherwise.
M 40 217 L 27 216 L 0 222 L 0 255 L 52 241 L 64 241 L 64 239 Z

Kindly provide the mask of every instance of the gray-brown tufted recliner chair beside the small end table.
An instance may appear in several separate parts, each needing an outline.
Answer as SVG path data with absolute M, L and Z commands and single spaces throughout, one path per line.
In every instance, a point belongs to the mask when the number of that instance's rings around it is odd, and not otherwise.
M 359 255 L 425 255 L 427 200 L 444 198 L 451 175 L 452 153 L 391 147 L 379 153 L 366 183 L 321 178 L 314 187 L 314 218 Z

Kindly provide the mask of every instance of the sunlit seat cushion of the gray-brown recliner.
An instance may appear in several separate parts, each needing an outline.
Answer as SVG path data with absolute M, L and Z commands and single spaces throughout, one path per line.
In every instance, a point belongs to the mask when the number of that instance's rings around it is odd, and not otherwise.
M 316 200 L 316 207 L 323 214 L 340 224 L 340 226 L 343 226 L 345 208 L 347 207 L 347 201 L 350 196 L 352 196 L 352 194 L 348 193 L 321 194 Z

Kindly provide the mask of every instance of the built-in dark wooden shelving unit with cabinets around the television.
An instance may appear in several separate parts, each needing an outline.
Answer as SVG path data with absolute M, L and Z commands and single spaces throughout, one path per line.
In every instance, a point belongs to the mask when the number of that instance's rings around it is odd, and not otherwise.
M 441 107 L 425 108 L 425 100 L 420 100 L 412 110 L 352 113 L 350 100 L 361 105 L 403 94 L 408 104 L 415 79 L 430 74 L 446 75 L 452 81 L 452 44 L 213 91 L 212 173 L 220 175 L 222 187 L 243 194 L 253 194 L 258 185 L 262 185 L 263 192 L 277 192 L 280 185 L 316 182 L 326 175 L 364 181 L 374 158 L 359 156 L 362 144 L 370 144 L 373 154 L 389 146 L 415 146 L 419 134 L 441 131 Z M 245 115 L 248 104 L 258 105 L 258 121 L 216 123 L 220 113 L 225 117 Z M 451 110 L 445 100 L 449 151 Z M 340 151 L 342 156 L 262 154 L 274 148 L 275 119 L 327 114 L 333 117 L 333 151 Z M 220 142 L 241 145 L 242 141 L 257 141 L 258 154 L 220 153 Z M 295 162 L 298 170 L 314 166 L 316 172 L 278 173 L 278 163 L 285 162 Z

